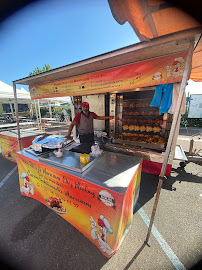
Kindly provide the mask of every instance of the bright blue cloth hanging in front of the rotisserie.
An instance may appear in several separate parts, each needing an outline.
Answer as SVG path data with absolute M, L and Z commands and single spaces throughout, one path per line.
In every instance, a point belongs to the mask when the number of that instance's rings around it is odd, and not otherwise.
M 150 103 L 151 106 L 159 108 L 159 114 L 167 113 L 172 104 L 173 83 L 157 85 Z

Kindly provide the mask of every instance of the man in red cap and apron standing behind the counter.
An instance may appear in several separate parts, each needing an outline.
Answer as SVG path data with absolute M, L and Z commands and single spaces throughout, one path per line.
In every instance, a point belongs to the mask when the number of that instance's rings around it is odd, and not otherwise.
M 78 113 L 74 120 L 72 121 L 67 138 L 70 137 L 73 127 L 78 125 L 78 133 L 80 143 L 91 143 L 94 144 L 94 128 L 93 128 L 93 119 L 98 120 L 107 120 L 112 119 L 112 116 L 98 116 L 94 112 L 89 111 L 89 103 L 82 103 L 82 112 Z

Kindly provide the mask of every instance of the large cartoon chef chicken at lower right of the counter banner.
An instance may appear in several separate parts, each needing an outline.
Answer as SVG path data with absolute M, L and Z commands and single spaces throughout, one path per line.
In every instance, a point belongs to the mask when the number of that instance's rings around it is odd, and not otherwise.
M 103 215 L 100 215 L 100 217 L 98 218 L 98 225 L 100 227 L 100 231 L 96 234 L 97 224 L 92 216 L 89 219 L 91 222 L 91 238 L 93 240 L 98 240 L 99 248 L 102 250 L 102 252 L 111 255 L 113 253 L 113 249 L 111 249 L 107 243 L 107 233 L 113 234 L 113 230 L 109 221 Z

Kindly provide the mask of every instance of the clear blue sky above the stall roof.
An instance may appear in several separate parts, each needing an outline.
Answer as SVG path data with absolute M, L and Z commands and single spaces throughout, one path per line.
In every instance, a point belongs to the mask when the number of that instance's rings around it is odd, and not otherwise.
M 0 80 L 12 86 L 37 66 L 57 68 L 137 42 L 129 23 L 115 21 L 107 0 L 37 1 L 0 24 Z M 202 93 L 202 83 L 189 84 L 189 94 Z

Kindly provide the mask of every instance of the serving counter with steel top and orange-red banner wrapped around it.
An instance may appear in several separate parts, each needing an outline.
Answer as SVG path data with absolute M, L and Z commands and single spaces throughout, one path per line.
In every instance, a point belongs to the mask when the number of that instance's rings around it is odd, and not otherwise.
M 88 164 L 63 149 L 33 155 L 17 153 L 20 191 L 67 220 L 111 257 L 128 231 L 138 199 L 141 158 L 104 152 Z M 121 165 L 120 165 L 121 164 Z

